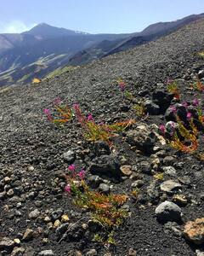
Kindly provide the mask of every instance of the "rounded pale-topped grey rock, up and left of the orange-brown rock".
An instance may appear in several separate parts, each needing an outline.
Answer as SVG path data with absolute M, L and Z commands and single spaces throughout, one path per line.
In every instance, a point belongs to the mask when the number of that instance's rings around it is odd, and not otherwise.
M 164 201 L 156 207 L 156 218 L 162 223 L 167 221 L 179 221 L 181 218 L 181 208 L 171 201 Z

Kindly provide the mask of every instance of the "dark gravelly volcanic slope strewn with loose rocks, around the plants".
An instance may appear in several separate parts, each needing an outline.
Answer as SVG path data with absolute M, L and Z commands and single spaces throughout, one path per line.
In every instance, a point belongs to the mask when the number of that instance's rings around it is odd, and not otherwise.
M 192 107 L 196 97 L 203 107 L 203 92 L 190 89 L 204 77 L 203 45 L 204 20 L 197 20 L 58 78 L 0 90 L 2 255 L 204 255 L 203 163 L 171 148 L 158 131 L 176 104 L 167 78 L 178 81 L 182 102 Z M 119 78 L 133 100 L 119 90 Z M 70 106 L 78 102 L 97 122 L 136 122 L 112 138 L 111 148 L 88 142 L 76 119 L 64 127 L 48 122 L 43 109 L 57 97 Z M 149 115 L 141 119 L 133 105 L 146 101 Z M 92 241 L 97 225 L 65 192 L 70 164 L 86 170 L 92 189 L 128 195 L 128 217 L 114 229 L 115 244 Z

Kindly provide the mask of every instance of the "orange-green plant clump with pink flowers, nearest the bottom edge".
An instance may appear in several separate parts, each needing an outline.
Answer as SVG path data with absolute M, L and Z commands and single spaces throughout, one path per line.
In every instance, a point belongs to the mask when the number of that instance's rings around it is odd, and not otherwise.
M 65 192 L 74 197 L 77 207 L 88 209 L 94 221 L 101 224 L 105 230 L 122 224 L 127 217 L 127 211 L 121 207 L 127 201 L 127 195 L 105 195 L 91 190 L 85 181 L 85 171 L 76 171 L 76 166 L 68 167 L 68 175 L 65 175 L 67 185 Z

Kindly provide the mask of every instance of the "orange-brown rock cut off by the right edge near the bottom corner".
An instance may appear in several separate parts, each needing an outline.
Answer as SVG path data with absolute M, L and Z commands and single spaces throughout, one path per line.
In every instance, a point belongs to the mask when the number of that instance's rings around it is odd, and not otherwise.
M 189 241 L 201 245 L 204 243 L 204 218 L 196 218 L 184 225 L 184 236 Z

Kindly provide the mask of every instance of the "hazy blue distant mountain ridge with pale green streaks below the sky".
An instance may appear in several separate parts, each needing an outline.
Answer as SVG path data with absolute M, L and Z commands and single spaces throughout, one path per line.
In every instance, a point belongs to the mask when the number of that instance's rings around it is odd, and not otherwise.
M 146 44 L 203 17 L 158 22 L 130 34 L 89 34 L 46 23 L 21 34 L 0 34 L 0 86 L 25 84 L 65 65 L 82 65 Z

